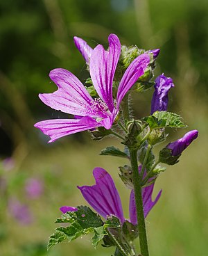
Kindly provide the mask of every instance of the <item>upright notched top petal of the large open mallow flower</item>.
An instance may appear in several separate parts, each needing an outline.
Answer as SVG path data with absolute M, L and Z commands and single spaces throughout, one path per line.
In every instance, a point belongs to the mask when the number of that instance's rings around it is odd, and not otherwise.
M 109 36 L 108 41 L 108 51 L 105 51 L 102 45 L 97 45 L 92 51 L 89 72 L 96 92 L 103 99 L 103 102 L 107 104 L 110 112 L 112 112 L 114 109 L 112 82 L 121 54 L 121 43 L 114 34 Z

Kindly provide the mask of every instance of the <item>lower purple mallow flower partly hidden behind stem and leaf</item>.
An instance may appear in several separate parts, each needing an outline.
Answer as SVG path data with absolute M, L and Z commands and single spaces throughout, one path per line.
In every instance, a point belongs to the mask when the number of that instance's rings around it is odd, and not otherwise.
M 123 208 L 121 205 L 121 198 L 119 192 L 116 189 L 114 181 L 109 173 L 103 168 L 94 168 L 93 175 L 96 184 L 93 186 L 78 186 L 83 197 L 92 206 L 92 208 L 103 218 L 108 216 L 116 216 L 123 224 L 126 220 L 123 216 Z M 154 184 L 146 186 L 142 189 L 142 199 L 144 206 L 144 216 L 146 217 L 159 200 L 162 191 L 159 191 L 157 197 L 152 201 Z M 63 213 L 67 211 L 77 211 L 76 207 L 64 206 L 60 210 Z M 134 190 L 130 194 L 130 205 L 129 205 L 130 223 L 133 225 L 137 224 L 137 212 L 135 205 L 135 193 Z

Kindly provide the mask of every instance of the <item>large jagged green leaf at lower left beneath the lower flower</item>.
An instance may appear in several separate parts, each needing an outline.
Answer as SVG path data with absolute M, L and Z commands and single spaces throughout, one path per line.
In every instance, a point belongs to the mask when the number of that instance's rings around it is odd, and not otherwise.
M 94 228 L 103 226 L 98 214 L 85 206 L 77 207 L 78 211 L 68 211 L 58 218 L 55 223 L 69 223 L 68 227 L 57 227 L 49 238 L 48 249 L 64 240 L 72 240 L 94 232 Z

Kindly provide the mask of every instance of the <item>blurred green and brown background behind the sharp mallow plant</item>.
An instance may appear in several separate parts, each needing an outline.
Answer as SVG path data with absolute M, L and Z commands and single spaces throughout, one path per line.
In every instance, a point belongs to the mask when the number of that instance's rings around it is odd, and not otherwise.
M 90 236 L 49 252 L 46 242 L 60 206 L 85 204 L 76 186 L 94 184 L 96 166 L 114 177 L 128 218 L 129 191 L 118 177 L 126 161 L 98 156 L 107 145 L 122 145 L 112 138 L 94 142 L 87 132 L 47 144 L 47 136 L 33 127 L 39 120 L 67 118 L 37 96 L 56 89 L 50 70 L 64 67 L 83 82 L 88 77 L 73 36 L 107 47 L 110 33 L 125 45 L 161 49 L 155 75 L 173 78 L 168 109 L 189 125 L 170 131 L 168 140 L 199 130 L 180 163 L 168 166 L 155 184 L 155 194 L 163 192 L 147 218 L 150 255 L 207 255 L 207 0 L 7 0 L 0 1 L 0 13 L 0 255 L 113 252 L 94 250 Z M 148 90 L 135 100 L 138 118 L 150 112 L 152 94 Z

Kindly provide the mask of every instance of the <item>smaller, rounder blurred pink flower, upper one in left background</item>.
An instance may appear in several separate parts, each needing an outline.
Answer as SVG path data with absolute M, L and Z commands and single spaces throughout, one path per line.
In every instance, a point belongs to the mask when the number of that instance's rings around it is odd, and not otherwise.
M 29 198 L 39 198 L 44 190 L 42 181 L 34 178 L 27 179 L 25 190 Z

